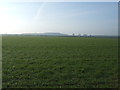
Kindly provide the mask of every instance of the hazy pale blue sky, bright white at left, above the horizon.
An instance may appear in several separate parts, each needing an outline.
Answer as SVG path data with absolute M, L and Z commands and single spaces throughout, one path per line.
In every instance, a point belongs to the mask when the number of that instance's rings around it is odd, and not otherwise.
M 0 33 L 118 34 L 117 2 L 0 4 Z

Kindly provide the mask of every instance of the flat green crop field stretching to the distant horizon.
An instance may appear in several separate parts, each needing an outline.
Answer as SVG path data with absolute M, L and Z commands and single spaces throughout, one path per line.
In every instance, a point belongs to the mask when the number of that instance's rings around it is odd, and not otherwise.
M 116 88 L 118 40 L 2 37 L 3 88 Z

